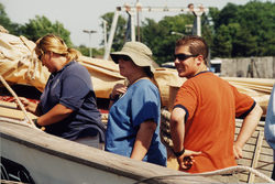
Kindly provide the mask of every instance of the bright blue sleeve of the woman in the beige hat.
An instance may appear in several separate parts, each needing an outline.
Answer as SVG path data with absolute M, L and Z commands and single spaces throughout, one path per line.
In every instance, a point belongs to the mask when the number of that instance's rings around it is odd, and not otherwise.
M 131 118 L 133 127 L 140 126 L 146 119 L 153 119 L 157 125 L 161 116 L 161 98 L 157 88 L 138 86 L 132 95 Z

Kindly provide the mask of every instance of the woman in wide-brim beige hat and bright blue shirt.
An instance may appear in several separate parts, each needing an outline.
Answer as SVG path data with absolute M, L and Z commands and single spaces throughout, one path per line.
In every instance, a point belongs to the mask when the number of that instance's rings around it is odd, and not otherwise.
M 151 50 L 140 42 L 127 42 L 111 57 L 128 85 L 117 84 L 110 94 L 106 150 L 166 166 L 160 137 L 161 95 Z

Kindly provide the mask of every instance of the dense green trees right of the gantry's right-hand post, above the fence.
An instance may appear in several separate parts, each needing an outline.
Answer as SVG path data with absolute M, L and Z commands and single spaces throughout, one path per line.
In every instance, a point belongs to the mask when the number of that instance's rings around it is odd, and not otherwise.
M 216 32 L 213 55 L 218 57 L 274 55 L 274 12 L 275 3 L 260 0 L 251 0 L 244 6 L 228 3 L 221 11 L 210 11 Z M 228 30 L 229 34 L 224 30 Z M 229 40 L 224 37 L 226 34 L 230 36 Z

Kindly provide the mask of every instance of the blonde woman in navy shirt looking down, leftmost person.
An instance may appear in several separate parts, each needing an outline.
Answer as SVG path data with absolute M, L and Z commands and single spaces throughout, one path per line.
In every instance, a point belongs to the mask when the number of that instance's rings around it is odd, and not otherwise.
M 38 105 L 21 98 L 26 110 L 40 116 L 34 120 L 36 127 L 45 127 L 45 132 L 57 137 L 103 149 L 105 125 L 97 109 L 90 75 L 77 63 L 80 53 L 53 34 L 41 37 L 34 51 L 51 73 Z

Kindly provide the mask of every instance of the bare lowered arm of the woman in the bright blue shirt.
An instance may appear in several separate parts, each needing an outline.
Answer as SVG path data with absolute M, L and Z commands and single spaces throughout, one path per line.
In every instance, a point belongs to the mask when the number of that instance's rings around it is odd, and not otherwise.
M 150 148 L 153 134 L 156 130 L 156 122 L 153 119 L 145 120 L 141 123 L 138 131 L 134 148 L 131 154 L 132 159 L 142 161 Z

